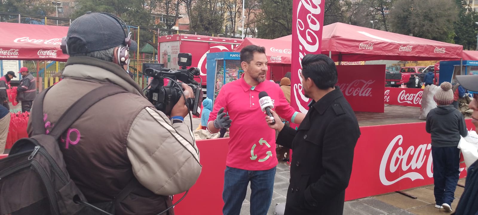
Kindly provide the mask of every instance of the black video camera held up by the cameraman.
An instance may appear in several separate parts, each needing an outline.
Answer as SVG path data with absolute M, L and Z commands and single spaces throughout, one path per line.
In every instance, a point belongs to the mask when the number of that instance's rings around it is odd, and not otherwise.
M 171 110 L 174 105 L 183 96 L 182 83 L 187 84 L 193 88 L 194 99 L 186 99 L 186 106 L 192 111 L 193 115 L 200 116 L 198 109 L 201 107 L 203 100 L 203 91 L 201 85 L 194 80 L 194 76 L 198 76 L 199 68 L 190 67 L 192 56 L 189 53 L 178 54 L 178 65 L 181 69 L 172 70 L 164 68 L 164 64 L 152 64 L 143 63 L 143 75 L 152 77 L 150 88 L 146 89 L 145 96 L 148 100 L 158 109 L 166 115 L 171 115 Z M 172 81 L 164 86 L 164 78 L 168 78 Z M 176 82 L 179 80 L 180 82 Z

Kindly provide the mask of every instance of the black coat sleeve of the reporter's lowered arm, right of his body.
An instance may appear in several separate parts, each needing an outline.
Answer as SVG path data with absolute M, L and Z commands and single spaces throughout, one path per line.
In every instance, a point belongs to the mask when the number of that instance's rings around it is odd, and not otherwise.
M 330 122 L 322 141 L 325 174 L 305 189 L 306 202 L 324 202 L 327 197 L 337 195 L 348 187 L 359 136 L 357 122 L 348 115 L 341 115 Z

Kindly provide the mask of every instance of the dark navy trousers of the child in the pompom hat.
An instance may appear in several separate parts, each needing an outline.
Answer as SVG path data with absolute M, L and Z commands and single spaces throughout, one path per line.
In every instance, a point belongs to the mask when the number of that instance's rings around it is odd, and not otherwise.
M 460 149 L 432 146 L 432 157 L 435 202 L 437 205 L 446 203 L 451 206 L 460 177 Z

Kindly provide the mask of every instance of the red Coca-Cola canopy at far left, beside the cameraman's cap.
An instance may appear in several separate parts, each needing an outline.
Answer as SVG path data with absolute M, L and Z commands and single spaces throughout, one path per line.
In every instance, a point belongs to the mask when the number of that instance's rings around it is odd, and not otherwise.
M 60 49 L 68 27 L 0 22 L 0 60 L 66 61 Z

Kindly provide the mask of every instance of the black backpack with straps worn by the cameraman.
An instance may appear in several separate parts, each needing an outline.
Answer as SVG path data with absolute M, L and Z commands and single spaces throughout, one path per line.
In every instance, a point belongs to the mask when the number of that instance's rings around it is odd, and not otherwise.
M 113 85 L 93 89 L 69 107 L 45 134 L 43 98 L 49 89 L 33 102 L 33 135 L 16 141 L 9 156 L 0 159 L 0 215 L 96 215 L 106 211 L 114 214 L 114 204 L 129 194 L 129 185 L 114 201 L 88 204 L 66 171 L 58 138 L 89 107 L 126 91 Z

